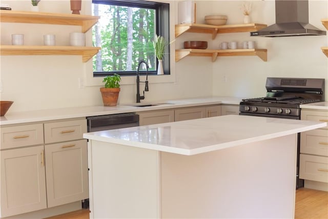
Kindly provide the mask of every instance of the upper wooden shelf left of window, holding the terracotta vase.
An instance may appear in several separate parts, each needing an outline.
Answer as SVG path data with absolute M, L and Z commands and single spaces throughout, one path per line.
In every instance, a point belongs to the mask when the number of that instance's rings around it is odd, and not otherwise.
M 81 26 L 82 32 L 87 32 L 98 22 L 99 16 L 80 14 L 59 14 L 30 11 L 1 10 L 1 22 L 30 23 L 30 24 L 56 24 Z

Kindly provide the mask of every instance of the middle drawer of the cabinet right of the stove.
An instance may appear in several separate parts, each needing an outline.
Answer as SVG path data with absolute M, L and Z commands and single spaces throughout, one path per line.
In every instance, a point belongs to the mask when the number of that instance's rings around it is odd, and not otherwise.
M 315 129 L 301 133 L 301 153 L 328 156 L 328 132 Z

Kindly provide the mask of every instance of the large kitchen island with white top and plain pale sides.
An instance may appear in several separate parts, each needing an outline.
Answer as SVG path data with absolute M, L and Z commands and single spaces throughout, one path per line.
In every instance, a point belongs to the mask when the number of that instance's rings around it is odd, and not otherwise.
M 297 133 L 226 115 L 85 133 L 90 218 L 293 218 Z

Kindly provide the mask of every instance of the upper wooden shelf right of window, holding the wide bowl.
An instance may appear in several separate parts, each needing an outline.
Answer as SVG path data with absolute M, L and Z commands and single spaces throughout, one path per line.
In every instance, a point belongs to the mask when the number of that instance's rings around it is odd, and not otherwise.
M 218 33 L 252 32 L 267 27 L 265 24 L 236 24 L 236 25 L 206 25 L 206 24 L 178 24 L 175 25 L 175 37 L 182 33 L 209 33 L 215 39 Z

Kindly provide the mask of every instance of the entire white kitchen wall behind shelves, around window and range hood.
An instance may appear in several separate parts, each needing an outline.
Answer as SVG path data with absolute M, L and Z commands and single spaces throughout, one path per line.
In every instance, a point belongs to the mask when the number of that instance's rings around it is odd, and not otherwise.
M 171 3 L 171 24 L 177 23 L 177 1 Z M 1 1 L 10 4 L 13 10 L 30 10 L 30 1 Z M 273 24 L 275 22 L 274 1 L 254 1 L 253 22 Z M 243 15 L 241 1 L 197 1 L 197 23 L 204 23 L 209 14 L 228 15 L 228 24 L 241 24 Z M 81 14 L 91 13 L 91 1 L 83 1 Z M 69 0 L 39 3 L 40 11 L 71 13 Z M 311 1 L 310 23 L 324 29 L 320 19 L 328 17 L 327 1 Z M 62 25 L 1 23 L 1 45 L 11 44 L 12 33 L 24 33 L 25 45 L 42 45 L 42 36 L 56 34 L 56 45 L 68 45 L 70 32 L 79 32 L 80 27 Z M 171 36 L 174 25 L 171 25 Z M 87 33 L 87 46 L 91 46 L 91 31 Z M 249 33 L 219 34 L 215 41 L 209 34 L 184 33 L 172 47 L 183 47 L 183 41 L 209 41 L 209 48 L 217 48 L 222 41 L 247 40 Z M 218 57 L 215 63 L 210 57 L 185 57 L 174 63 L 171 56 L 172 76 L 151 76 L 147 101 L 200 97 L 207 95 L 263 96 L 265 78 L 268 76 L 320 77 L 326 79 L 328 58 L 320 50 L 327 46 L 327 36 L 301 37 L 252 37 L 259 48 L 268 49 L 268 62 L 256 56 Z M 173 49 L 171 49 L 173 51 Z M 2 100 L 12 100 L 10 111 L 39 110 L 74 106 L 102 105 L 99 87 L 101 83 L 90 83 L 91 61 L 82 63 L 80 56 L 1 56 L 0 83 Z M 227 82 L 223 82 L 223 76 Z M 143 79 L 143 78 L 141 78 Z M 84 86 L 79 87 L 79 80 Z M 170 81 L 159 83 L 161 80 Z M 119 103 L 135 102 L 135 77 L 122 79 Z M 94 85 L 94 86 L 89 86 Z M 143 87 L 141 85 L 141 87 Z M 328 88 L 326 89 L 328 90 Z M 327 98 L 326 91 L 326 98 Z

